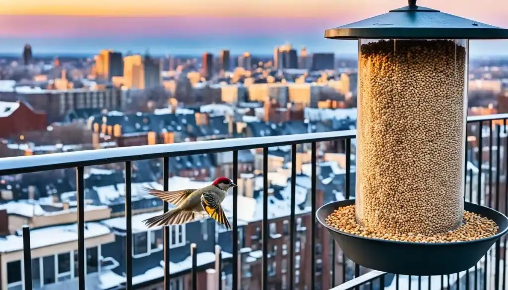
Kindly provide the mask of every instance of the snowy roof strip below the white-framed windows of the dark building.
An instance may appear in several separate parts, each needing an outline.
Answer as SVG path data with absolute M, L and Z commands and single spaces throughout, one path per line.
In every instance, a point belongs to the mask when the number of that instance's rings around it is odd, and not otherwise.
M 222 252 L 223 259 L 230 259 L 232 257 L 231 253 Z M 215 262 L 215 253 L 213 252 L 202 252 L 197 254 L 197 266 L 205 266 Z M 132 279 L 133 285 L 151 281 L 154 279 L 164 277 L 164 261 L 161 261 L 161 266 L 157 266 L 147 270 L 145 273 L 136 275 Z M 188 256 L 185 260 L 172 263 L 169 262 L 169 272 L 170 274 L 178 274 L 185 270 L 189 270 L 192 268 L 192 257 Z M 100 276 L 99 279 L 101 281 L 102 289 L 109 289 L 111 287 L 120 285 L 125 282 L 125 277 L 115 274 L 113 271 L 105 271 Z

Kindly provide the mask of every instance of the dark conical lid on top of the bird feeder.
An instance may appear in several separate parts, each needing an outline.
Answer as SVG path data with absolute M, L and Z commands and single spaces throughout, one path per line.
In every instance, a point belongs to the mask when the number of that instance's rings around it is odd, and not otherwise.
M 508 39 L 508 29 L 416 5 L 331 28 L 329 39 Z

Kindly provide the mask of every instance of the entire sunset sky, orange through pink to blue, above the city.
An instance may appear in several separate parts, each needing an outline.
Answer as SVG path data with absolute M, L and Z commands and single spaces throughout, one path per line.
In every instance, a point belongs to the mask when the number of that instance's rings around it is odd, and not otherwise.
M 21 4 L 22 3 L 22 4 Z M 431 7 L 508 27 L 508 3 L 419 0 Z M 355 53 L 354 41 L 324 30 L 407 5 L 405 0 L 0 0 L 0 53 L 94 53 L 102 48 L 200 54 L 229 48 L 270 54 L 286 42 L 312 51 Z M 471 53 L 506 54 L 507 41 L 474 41 Z

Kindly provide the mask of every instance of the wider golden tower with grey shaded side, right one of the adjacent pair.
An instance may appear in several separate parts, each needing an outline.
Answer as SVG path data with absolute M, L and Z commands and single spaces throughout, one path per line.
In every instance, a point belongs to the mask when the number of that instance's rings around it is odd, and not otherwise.
M 161 85 L 161 64 L 157 59 L 136 54 L 125 56 L 123 63 L 124 86 L 146 89 Z

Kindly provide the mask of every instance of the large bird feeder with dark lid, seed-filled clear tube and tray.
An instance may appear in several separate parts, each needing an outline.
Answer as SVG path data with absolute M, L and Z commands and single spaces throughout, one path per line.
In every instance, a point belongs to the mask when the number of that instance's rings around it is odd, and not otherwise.
M 359 45 L 357 188 L 356 201 L 325 205 L 317 218 L 351 260 L 370 269 L 441 275 L 474 266 L 508 222 L 463 199 L 469 40 L 508 39 L 508 29 L 410 0 L 406 7 L 328 29 L 325 37 Z M 357 224 L 386 237 L 327 224 L 335 209 L 352 204 Z M 493 220 L 497 234 L 436 240 L 463 225 L 464 210 Z

